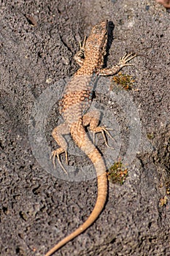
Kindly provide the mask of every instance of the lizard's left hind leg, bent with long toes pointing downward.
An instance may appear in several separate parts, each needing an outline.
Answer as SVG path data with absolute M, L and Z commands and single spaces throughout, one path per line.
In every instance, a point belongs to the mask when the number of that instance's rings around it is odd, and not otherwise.
M 60 146 L 60 148 L 55 149 L 50 156 L 50 159 L 53 157 L 54 167 L 55 167 L 55 157 L 57 157 L 58 162 L 61 165 L 61 168 L 66 174 L 68 173 L 61 163 L 60 155 L 62 153 L 66 154 L 66 164 L 68 164 L 68 157 L 67 157 L 68 146 L 67 146 L 66 140 L 63 138 L 63 135 L 69 134 L 69 132 L 70 130 L 66 123 L 60 124 L 58 125 L 58 127 L 55 127 L 55 129 L 53 129 L 52 136 L 55 139 L 56 143 L 58 143 L 58 146 Z

